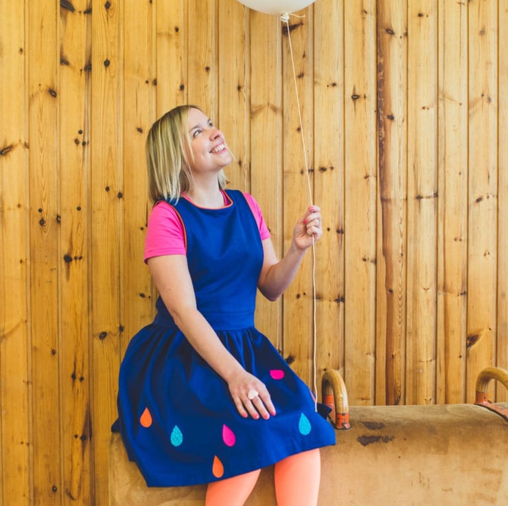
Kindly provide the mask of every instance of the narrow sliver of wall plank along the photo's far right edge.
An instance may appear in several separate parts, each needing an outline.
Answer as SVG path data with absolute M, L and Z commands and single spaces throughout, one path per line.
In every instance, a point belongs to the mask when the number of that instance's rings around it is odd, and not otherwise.
M 502 54 L 508 44 L 508 4 L 499 3 L 498 51 Z M 508 369 L 508 58 L 499 58 L 498 80 L 498 332 L 496 364 Z M 508 390 L 496 388 L 496 401 L 507 402 Z

